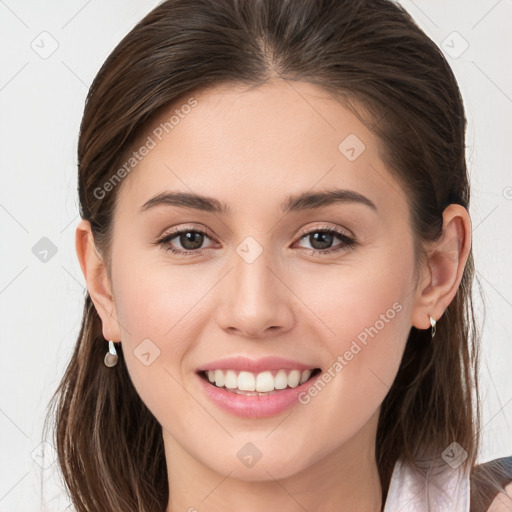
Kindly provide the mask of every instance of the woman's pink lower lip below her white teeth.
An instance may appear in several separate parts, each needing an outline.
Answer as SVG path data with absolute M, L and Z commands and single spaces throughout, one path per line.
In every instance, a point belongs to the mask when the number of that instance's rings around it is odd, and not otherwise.
M 267 418 L 276 416 L 299 403 L 298 396 L 321 376 L 318 373 L 296 388 L 287 388 L 271 395 L 240 395 L 224 388 L 218 388 L 196 374 L 201 386 L 210 399 L 219 407 L 242 418 Z

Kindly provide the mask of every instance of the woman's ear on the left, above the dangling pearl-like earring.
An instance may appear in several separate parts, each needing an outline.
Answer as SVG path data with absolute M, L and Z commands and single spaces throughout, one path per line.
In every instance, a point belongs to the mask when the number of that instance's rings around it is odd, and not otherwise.
M 117 321 L 117 311 L 108 278 L 107 267 L 96 249 L 91 224 L 82 219 L 76 228 L 75 248 L 80 267 L 87 283 L 89 295 L 98 312 L 105 340 L 119 341 L 121 330 Z

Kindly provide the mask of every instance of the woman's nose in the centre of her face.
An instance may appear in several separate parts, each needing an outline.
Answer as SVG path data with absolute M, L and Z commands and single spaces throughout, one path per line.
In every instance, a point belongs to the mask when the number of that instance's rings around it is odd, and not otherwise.
M 293 293 L 265 251 L 251 263 L 235 254 L 223 279 L 217 322 L 230 334 L 266 339 L 290 330 L 295 322 Z

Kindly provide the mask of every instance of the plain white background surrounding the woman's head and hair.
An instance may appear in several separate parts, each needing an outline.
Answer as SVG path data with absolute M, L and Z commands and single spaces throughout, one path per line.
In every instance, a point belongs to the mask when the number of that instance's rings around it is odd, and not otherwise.
M 41 428 L 83 306 L 74 249 L 79 123 L 101 64 L 157 3 L 0 0 L 0 512 L 68 509 L 51 447 L 41 462 Z M 512 2 L 402 4 L 447 55 L 469 122 L 473 249 L 486 304 L 484 462 L 512 455 Z M 45 262 L 37 244 L 53 246 Z

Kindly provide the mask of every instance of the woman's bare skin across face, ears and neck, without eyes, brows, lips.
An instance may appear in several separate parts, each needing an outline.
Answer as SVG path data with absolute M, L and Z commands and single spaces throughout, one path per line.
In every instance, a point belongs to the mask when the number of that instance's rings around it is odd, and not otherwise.
M 117 191 L 111 279 L 89 223 L 76 230 L 103 335 L 122 341 L 133 383 L 163 427 L 167 512 L 263 512 L 269 504 L 284 512 L 380 510 L 380 406 L 411 326 L 429 329 L 429 314 L 439 319 L 455 296 L 471 244 L 469 215 L 448 206 L 443 236 L 417 267 L 406 192 L 382 162 L 376 136 L 348 109 L 314 85 L 282 80 L 194 98 L 197 106 Z M 338 149 L 349 134 L 366 146 L 354 161 Z M 378 211 L 340 203 L 282 213 L 288 195 L 331 187 L 363 194 Z M 138 213 L 166 190 L 216 198 L 232 213 L 171 205 Z M 182 226 L 214 236 L 193 256 L 153 245 Z M 358 244 L 347 248 L 334 237 L 340 251 L 312 255 L 321 246 L 302 236 L 326 226 Z M 236 252 L 247 236 L 263 249 L 250 264 Z M 186 250 L 179 237 L 169 244 Z M 231 415 L 197 382 L 199 366 L 234 354 L 326 370 L 394 303 L 400 312 L 317 396 L 278 416 Z M 134 354 L 146 338 L 160 349 L 149 366 Z M 247 442 L 262 454 L 250 468 L 237 457 Z

